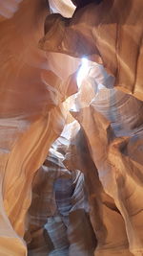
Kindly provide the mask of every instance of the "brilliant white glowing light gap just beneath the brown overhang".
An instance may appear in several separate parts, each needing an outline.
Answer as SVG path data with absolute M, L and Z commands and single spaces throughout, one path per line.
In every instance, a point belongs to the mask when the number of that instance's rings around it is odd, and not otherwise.
M 87 77 L 89 68 L 90 68 L 90 66 L 88 63 L 88 58 L 82 58 L 82 64 L 81 64 L 81 67 L 78 71 L 77 78 L 76 78 L 78 88 L 80 88 L 82 81 Z

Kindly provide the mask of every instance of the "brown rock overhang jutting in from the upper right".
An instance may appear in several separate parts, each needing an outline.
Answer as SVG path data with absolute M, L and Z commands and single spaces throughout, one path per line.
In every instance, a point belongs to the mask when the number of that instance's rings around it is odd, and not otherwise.
M 72 19 L 51 14 L 39 46 L 102 62 L 115 77 L 114 86 L 143 100 L 142 9 L 142 0 L 103 0 L 77 9 Z

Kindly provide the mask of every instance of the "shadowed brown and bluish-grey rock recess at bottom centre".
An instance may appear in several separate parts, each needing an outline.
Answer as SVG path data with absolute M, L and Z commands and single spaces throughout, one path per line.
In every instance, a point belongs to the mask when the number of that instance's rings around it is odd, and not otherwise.
M 84 175 L 68 171 L 63 159 L 61 152 L 51 148 L 33 179 L 29 255 L 93 255 L 95 238 Z

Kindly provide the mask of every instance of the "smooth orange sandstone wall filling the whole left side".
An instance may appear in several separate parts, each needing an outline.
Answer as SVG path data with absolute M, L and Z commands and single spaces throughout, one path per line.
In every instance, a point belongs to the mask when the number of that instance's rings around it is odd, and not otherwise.
M 62 102 L 76 91 L 70 76 L 78 61 L 61 58 L 66 75 L 59 78 L 51 70 L 57 56 L 38 49 L 47 1 L 0 1 L 0 13 L 0 254 L 20 256 L 27 253 L 31 181 L 64 127 Z

